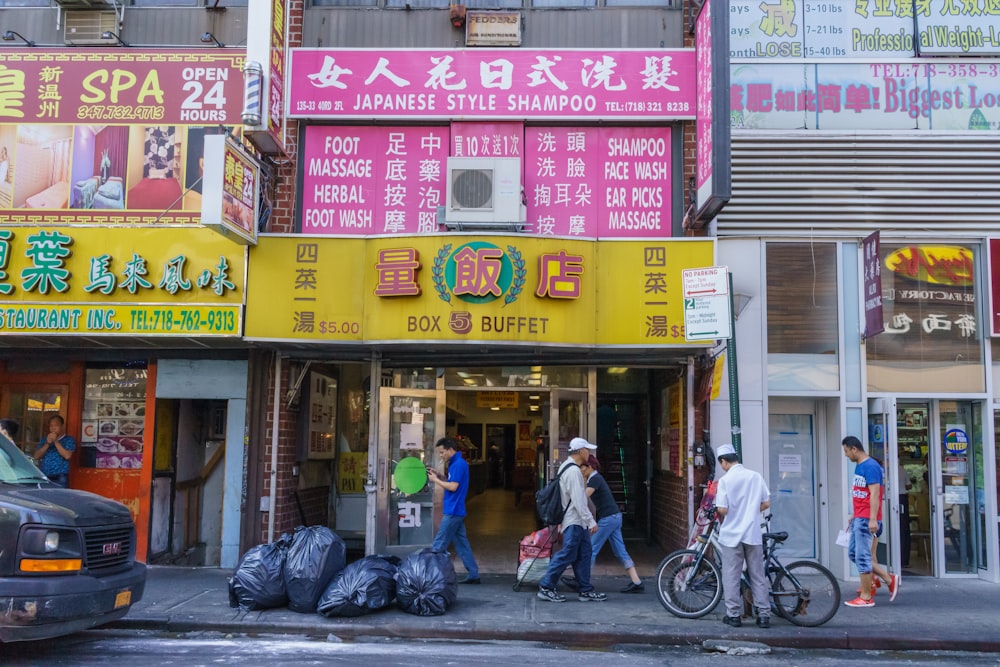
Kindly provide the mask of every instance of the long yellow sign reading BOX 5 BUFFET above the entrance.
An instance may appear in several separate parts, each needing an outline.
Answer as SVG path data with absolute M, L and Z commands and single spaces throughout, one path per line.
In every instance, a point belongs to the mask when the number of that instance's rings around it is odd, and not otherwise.
M 715 245 L 263 236 L 250 255 L 248 338 L 685 346 L 681 271 Z

